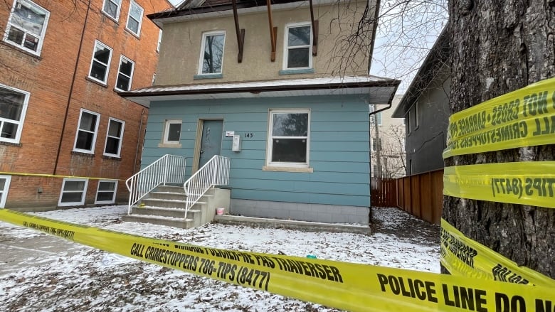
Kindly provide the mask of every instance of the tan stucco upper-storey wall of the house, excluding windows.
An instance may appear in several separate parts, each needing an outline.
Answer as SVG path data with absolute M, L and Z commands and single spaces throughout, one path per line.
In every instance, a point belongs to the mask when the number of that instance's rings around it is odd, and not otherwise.
M 355 53 L 352 60 L 339 52 L 342 38 L 354 32 L 364 12 L 365 1 L 344 1 L 337 4 L 314 5 L 314 18 L 319 21 L 318 54 L 312 59 L 314 73 L 279 75 L 283 68 L 284 32 L 290 23 L 310 23 L 310 9 L 302 7 L 273 11 L 273 25 L 277 27 L 275 62 L 270 61 L 270 27 L 266 11 L 240 14 L 239 26 L 245 28 L 243 62 L 237 62 L 238 45 L 233 16 L 193 19 L 164 23 L 162 48 L 157 69 L 156 85 L 178 85 L 192 82 L 229 82 L 270 80 L 329 75 L 367 75 L 371 32 L 364 36 L 366 50 Z M 194 80 L 198 73 L 202 34 L 225 31 L 223 78 Z

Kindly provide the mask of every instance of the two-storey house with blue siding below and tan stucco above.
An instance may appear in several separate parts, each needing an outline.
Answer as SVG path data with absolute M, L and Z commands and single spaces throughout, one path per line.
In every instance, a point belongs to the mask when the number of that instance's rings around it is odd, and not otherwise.
M 226 156 L 232 214 L 367 224 L 369 104 L 399 83 L 368 75 L 375 25 L 348 49 L 367 4 L 238 1 L 234 18 L 231 1 L 191 0 L 149 16 L 164 30 L 155 86 L 120 93 L 149 105 L 142 167 L 186 156 L 190 176 Z

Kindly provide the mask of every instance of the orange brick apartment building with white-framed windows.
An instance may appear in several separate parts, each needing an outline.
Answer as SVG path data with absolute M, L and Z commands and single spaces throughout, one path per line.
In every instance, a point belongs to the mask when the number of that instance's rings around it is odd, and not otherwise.
M 0 4 L 0 208 L 127 201 L 147 107 L 119 90 L 152 85 L 165 0 Z

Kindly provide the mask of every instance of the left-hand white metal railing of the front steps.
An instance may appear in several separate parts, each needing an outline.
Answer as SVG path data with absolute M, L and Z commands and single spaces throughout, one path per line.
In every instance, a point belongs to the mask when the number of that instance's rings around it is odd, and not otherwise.
M 129 205 L 127 213 L 131 213 L 131 206 L 138 203 L 144 195 L 154 190 L 158 185 L 166 183 L 184 183 L 187 158 L 166 154 L 146 168 L 135 173 L 125 181 L 129 190 Z

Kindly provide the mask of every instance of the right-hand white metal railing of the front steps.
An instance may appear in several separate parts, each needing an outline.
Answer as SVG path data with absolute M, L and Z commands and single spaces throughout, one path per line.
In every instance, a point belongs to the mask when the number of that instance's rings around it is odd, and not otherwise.
M 231 159 L 223 156 L 213 156 L 199 171 L 189 178 L 184 184 L 185 194 L 185 218 L 187 212 L 201 199 L 212 186 L 229 184 L 229 167 Z

